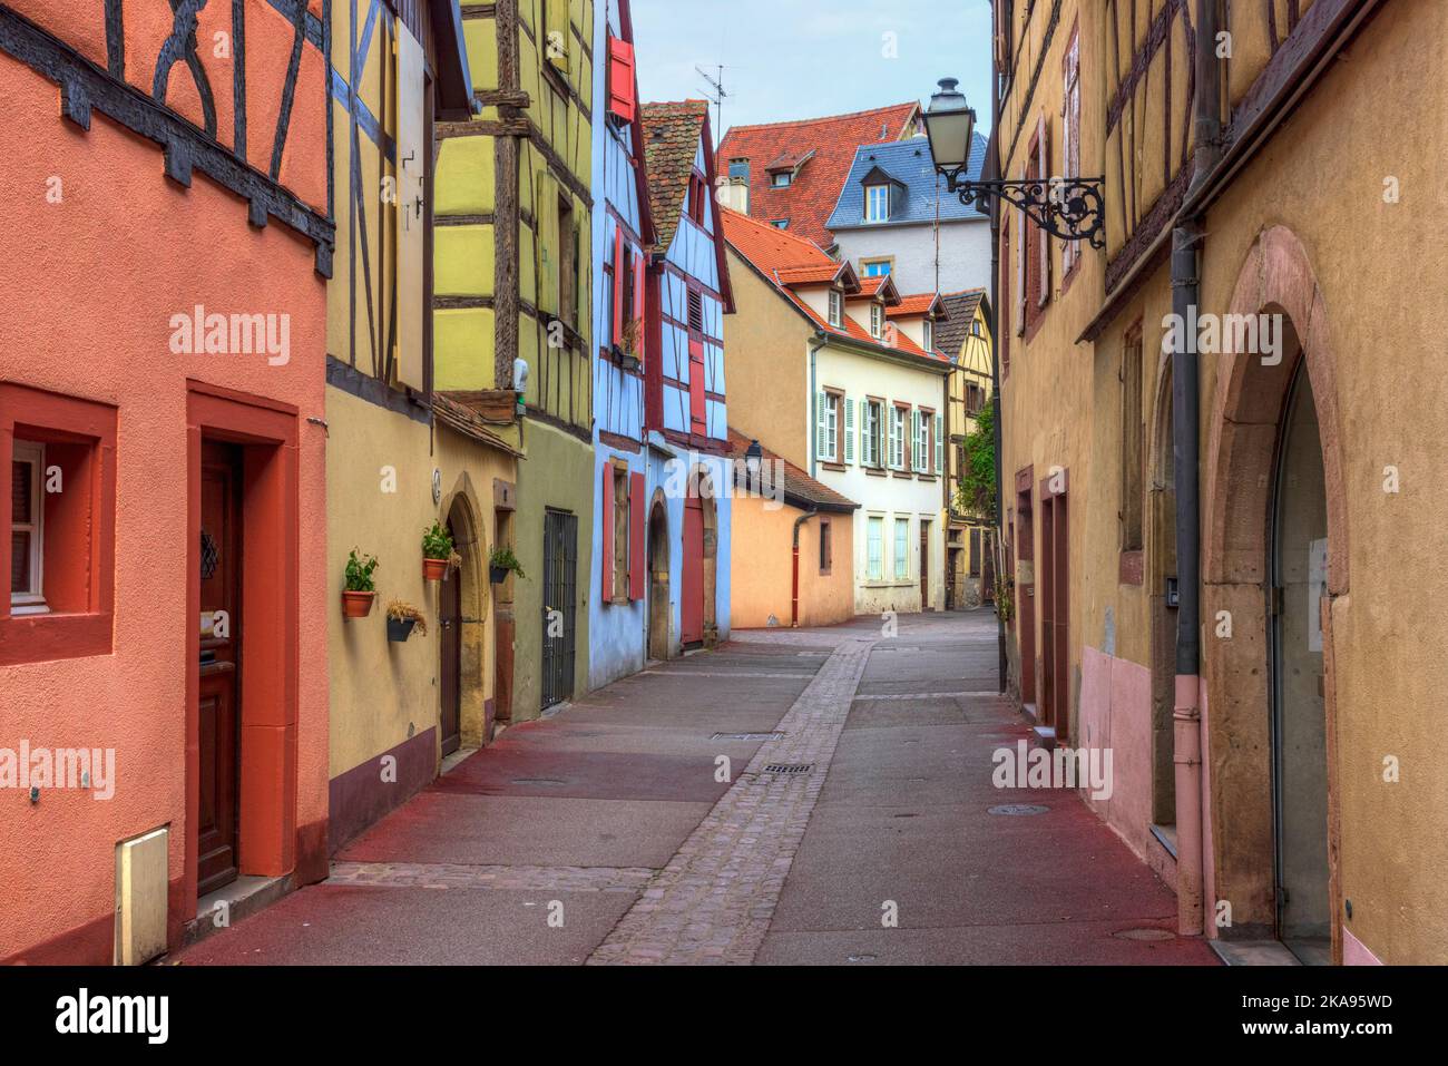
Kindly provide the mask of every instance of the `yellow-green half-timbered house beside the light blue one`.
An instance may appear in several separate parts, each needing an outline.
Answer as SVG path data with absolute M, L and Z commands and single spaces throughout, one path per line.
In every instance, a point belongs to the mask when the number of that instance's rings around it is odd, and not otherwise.
M 481 110 L 436 126 L 433 372 L 526 459 L 478 487 L 521 563 L 492 642 L 520 721 L 588 687 L 594 3 L 463 4 L 462 28 Z

